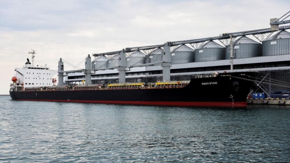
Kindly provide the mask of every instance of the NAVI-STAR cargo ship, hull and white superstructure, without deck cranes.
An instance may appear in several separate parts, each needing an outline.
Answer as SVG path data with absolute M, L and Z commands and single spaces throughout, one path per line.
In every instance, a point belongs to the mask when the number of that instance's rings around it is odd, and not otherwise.
M 30 52 L 34 56 L 35 51 Z M 34 66 L 29 59 L 15 68 L 10 97 L 25 101 L 58 101 L 129 105 L 246 107 L 254 72 L 214 72 L 188 81 L 55 85 L 57 71 Z

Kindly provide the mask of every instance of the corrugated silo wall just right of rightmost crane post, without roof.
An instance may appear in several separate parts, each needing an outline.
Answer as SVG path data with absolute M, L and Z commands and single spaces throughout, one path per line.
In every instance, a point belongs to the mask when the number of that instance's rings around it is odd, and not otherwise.
M 171 64 L 189 63 L 194 61 L 193 51 L 171 52 Z

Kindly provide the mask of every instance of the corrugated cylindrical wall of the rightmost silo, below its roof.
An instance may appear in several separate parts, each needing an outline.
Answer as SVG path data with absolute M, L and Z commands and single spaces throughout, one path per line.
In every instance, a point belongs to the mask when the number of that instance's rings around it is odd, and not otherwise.
M 290 54 L 290 39 L 276 39 L 262 42 L 262 55 Z

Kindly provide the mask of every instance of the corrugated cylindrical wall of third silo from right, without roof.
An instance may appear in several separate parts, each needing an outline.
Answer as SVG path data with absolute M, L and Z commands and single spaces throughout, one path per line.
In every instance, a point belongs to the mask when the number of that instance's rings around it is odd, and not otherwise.
M 194 62 L 223 60 L 225 48 L 202 48 L 194 51 Z

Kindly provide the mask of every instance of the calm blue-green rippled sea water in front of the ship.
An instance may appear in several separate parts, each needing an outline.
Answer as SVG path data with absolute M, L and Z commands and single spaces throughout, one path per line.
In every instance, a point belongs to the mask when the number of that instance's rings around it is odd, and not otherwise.
M 180 108 L 1 96 L 0 162 L 290 162 L 290 107 Z

